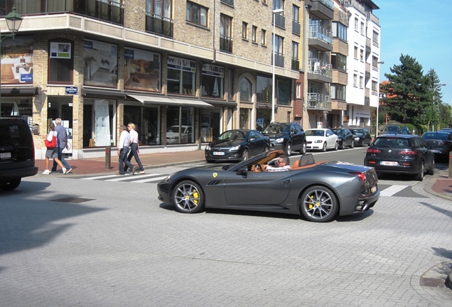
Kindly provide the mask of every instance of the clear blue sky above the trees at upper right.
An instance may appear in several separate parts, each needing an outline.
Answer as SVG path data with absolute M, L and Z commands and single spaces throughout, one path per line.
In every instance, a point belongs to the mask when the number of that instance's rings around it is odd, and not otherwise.
M 443 104 L 452 103 L 452 1 L 373 0 L 380 7 L 380 82 L 389 68 L 400 65 L 400 55 L 415 58 L 424 75 L 431 68 L 441 84 Z

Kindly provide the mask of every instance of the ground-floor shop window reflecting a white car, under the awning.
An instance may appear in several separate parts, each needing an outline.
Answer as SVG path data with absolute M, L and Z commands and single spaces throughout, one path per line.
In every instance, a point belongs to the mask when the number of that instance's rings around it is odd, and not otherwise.
M 166 112 L 166 144 L 195 142 L 194 115 L 191 107 L 168 107 Z

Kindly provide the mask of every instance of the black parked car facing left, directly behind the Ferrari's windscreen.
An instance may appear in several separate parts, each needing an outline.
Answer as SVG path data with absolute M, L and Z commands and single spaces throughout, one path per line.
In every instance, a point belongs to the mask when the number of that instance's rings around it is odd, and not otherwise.
M 257 130 L 228 130 L 205 146 L 205 160 L 240 161 L 270 150 L 270 139 Z

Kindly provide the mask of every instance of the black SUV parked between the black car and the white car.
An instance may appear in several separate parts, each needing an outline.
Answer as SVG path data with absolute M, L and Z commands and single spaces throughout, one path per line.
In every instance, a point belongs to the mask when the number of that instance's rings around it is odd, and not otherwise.
M 270 138 L 271 149 L 281 149 L 287 156 L 290 156 L 292 151 L 306 154 L 306 135 L 297 123 L 273 122 L 262 134 Z

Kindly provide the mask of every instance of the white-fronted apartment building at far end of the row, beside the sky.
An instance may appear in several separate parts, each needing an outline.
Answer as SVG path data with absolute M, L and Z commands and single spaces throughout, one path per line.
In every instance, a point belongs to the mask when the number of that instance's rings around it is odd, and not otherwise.
M 348 85 L 345 89 L 347 108 L 340 109 L 343 112 L 343 125 L 375 130 L 370 114 L 372 108 L 378 107 L 379 69 L 382 62 L 380 21 L 373 11 L 379 8 L 371 0 L 339 0 L 339 4 L 348 11 L 349 22 L 346 62 Z M 343 96 L 338 102 L 342 102 L 342 99 Z

